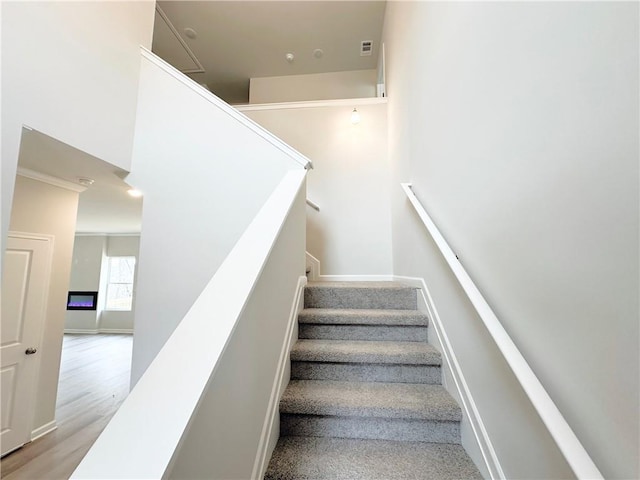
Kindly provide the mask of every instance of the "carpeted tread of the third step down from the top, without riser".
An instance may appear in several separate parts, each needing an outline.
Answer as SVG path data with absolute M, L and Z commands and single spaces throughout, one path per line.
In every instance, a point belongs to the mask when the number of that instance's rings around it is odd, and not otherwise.
M 424 342 L 298 340 L 291 360 L 335 363 L 440 365 L 440 352 Z

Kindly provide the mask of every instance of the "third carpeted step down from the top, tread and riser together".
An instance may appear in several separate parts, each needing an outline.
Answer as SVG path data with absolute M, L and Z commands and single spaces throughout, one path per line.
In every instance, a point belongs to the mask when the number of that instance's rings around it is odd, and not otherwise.
M 438 384 L 440 363 L 426 343 L 300 340 L 291 351 L 291 378 Z

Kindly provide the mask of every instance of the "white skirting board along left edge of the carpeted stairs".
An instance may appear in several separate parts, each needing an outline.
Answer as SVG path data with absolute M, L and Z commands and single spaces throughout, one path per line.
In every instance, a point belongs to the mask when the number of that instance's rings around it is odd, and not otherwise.
M 259 480 L 264 478 L 264 474 L 267 471 L 268 461 L 271 458 L 271 453 L 278 442 L 280 436 L 280 416 L 278 413 L 278 406 L 280 404 L 280 397 L 282 392 L 289 383 L 290 366 L 289 366 L 289 352 L 293 346 L 294 333 L 298 331 L 296 328 L 298 323 L 298 313 L 302 310 L 304 303 L 304 287 L 307 284 L 307 277 L 298 278 L 298 286 L 296 287 L 296 294 L 294 296 L 293 303 L 291 304 L 291 311 L 289 313 L 289 321 L 287 325 L 287 331 L 285 333 L 282 348 L 280 350 L 280 358 L 278 360 L 278 369 L 271 388 L 271 397 L 269 398 L 269 405 L 267 407 L 267 414 L 262 426 L 262 434 L 260 435 L 260 443 L 258 444 L 258 450 L 256 452 L 256 459 L 253 464 L 253 472 L 251 478 Z M 296 336 L 297 338 L 297 336 Z

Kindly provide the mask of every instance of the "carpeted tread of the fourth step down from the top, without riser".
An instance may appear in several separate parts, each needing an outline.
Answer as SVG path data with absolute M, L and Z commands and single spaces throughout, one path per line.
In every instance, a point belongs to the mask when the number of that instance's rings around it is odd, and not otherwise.
M 459 421 L 460 407 L 440 385 L 292 380 L 280 412 L 302 415 Z

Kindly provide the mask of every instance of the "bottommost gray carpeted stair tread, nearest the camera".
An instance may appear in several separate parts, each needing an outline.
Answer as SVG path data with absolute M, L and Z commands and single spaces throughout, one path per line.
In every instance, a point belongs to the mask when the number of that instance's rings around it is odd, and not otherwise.
M 475 480 L 460 445 L 320 437 L 282 437 L 265 480 Z

